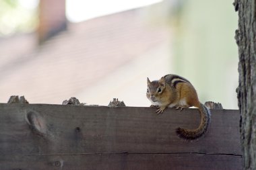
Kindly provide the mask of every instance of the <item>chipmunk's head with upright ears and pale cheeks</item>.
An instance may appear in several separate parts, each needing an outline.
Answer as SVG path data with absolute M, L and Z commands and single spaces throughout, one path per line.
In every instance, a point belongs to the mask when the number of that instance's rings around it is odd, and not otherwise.
M 159 81 L 150 81 L 150 79 L 147 78 L 147 81 L 148 89 L 146 95 L 148 99 L 151 101 L 153 105 L 161 105 L 161 95 L 166 87 L 164 77 L 162 77 Z

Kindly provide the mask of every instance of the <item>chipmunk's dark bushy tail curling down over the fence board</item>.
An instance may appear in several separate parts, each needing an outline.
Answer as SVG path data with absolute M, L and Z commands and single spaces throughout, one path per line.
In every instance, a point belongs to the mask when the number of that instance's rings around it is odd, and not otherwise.
M 210 124 L 210 110 L 206 108 L 205 105 L 199 103 L 199 112 L 201 114 L 201 123 L 196 129 L 185 129 L 185 128 L 177 128 L 176 132 L 178 136 L 184 138 L 186 140 L 195 140 L 200 138 L 207 131 L 207 127 Z

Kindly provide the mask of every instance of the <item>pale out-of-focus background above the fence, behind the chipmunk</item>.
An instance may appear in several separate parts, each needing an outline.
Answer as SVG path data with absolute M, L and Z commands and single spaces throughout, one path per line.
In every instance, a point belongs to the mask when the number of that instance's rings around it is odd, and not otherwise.
M 146 78 L 172 73 L 237 109 L 233 0 L 0 0 L 0 103 L 149 106 Z

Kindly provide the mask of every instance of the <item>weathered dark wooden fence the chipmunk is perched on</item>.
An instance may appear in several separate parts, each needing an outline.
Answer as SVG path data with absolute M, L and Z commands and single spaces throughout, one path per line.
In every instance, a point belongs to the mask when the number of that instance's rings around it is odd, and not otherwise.
M 242 169 L 237 110 L 212 110 L 207 134 L 196 109 L 0 104 L 0 169 Z

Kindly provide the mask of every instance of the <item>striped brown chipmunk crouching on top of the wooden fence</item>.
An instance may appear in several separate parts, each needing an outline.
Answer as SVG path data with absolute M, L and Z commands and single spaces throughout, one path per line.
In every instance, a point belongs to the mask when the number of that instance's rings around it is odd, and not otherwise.
M 210 110 L 200 103 L 197 92 L 191 83 L 179 75 L 165 75 L 159 81 L 148 81 L 147 97 L 153 107 L 157 107 L 157 114 L 162 114 L 168 108 L 183 110 L 195 106 L 201 114 L 201 123 L 197 129 L 177 128 L 181 138 L 195 140 L 205 134 L 210 123 Z

